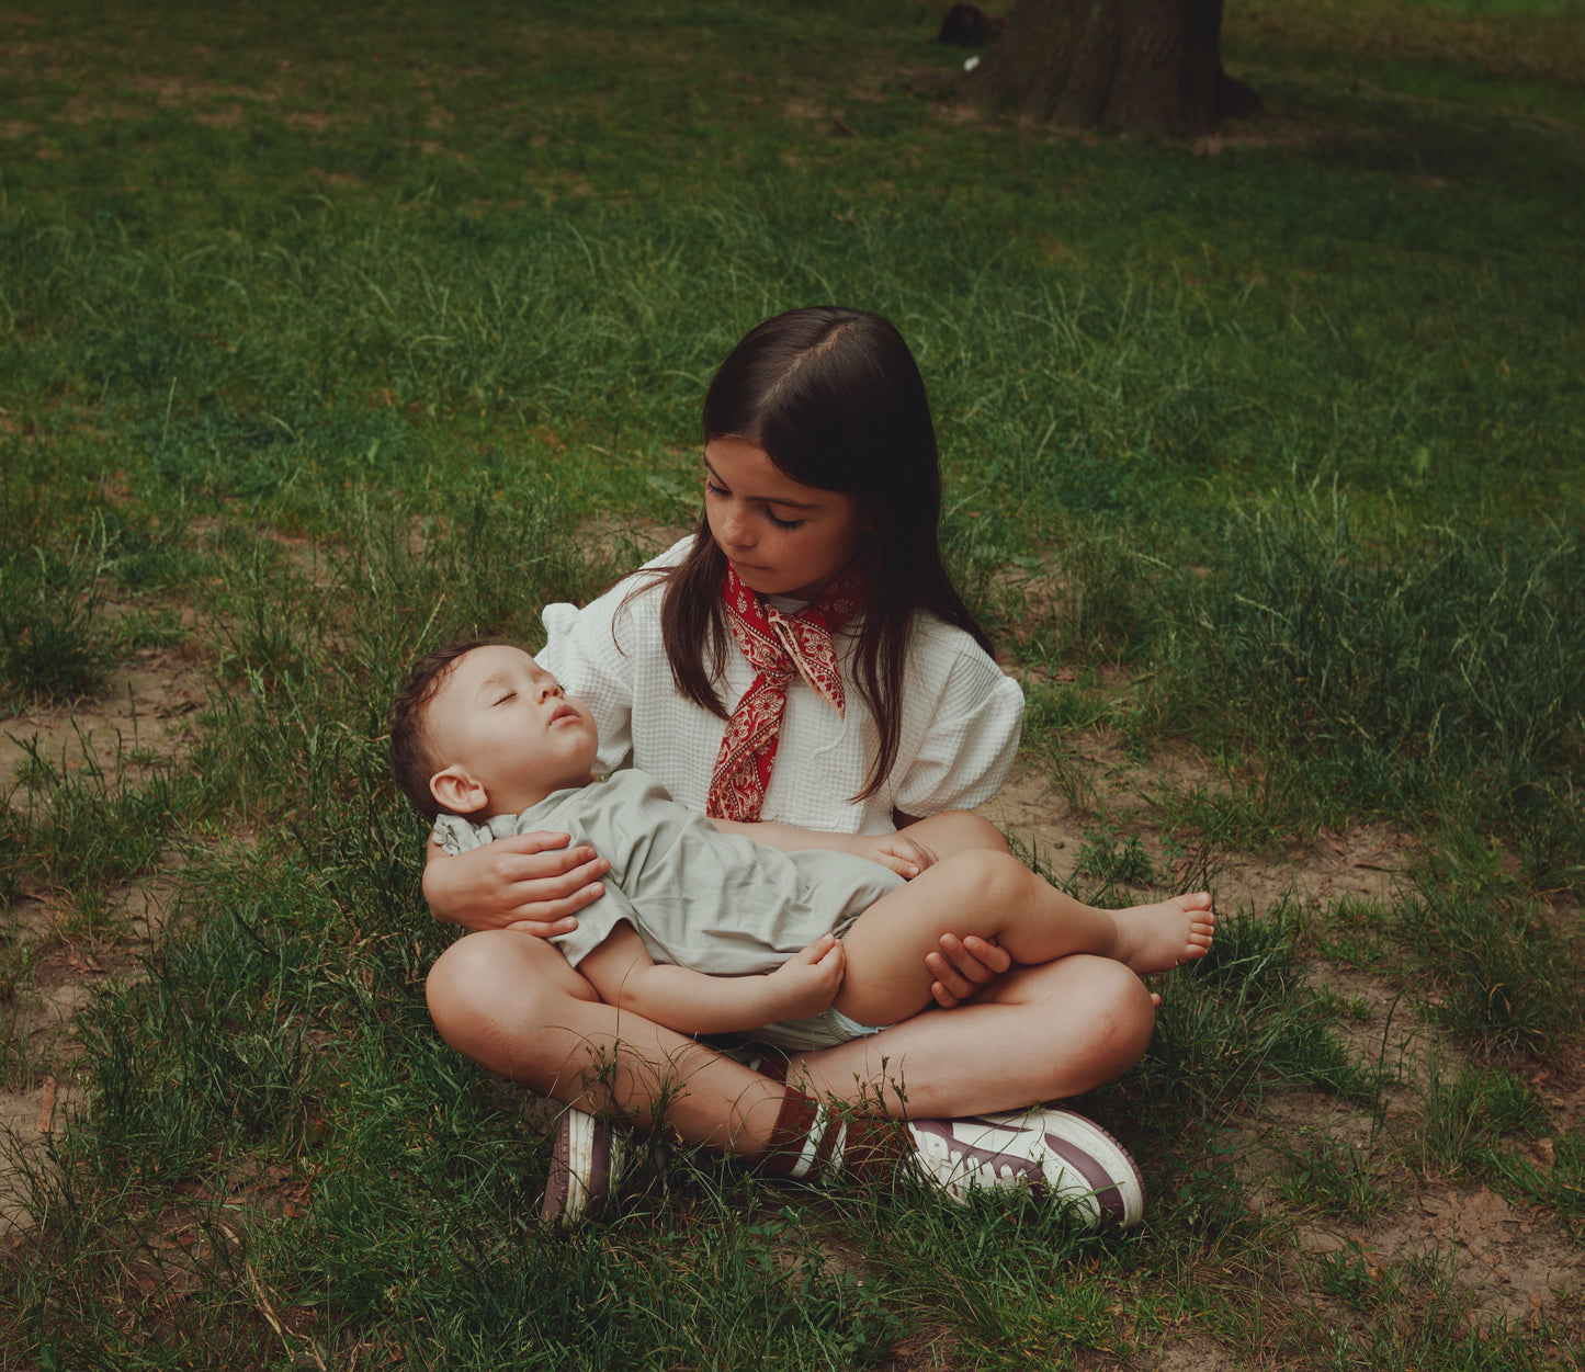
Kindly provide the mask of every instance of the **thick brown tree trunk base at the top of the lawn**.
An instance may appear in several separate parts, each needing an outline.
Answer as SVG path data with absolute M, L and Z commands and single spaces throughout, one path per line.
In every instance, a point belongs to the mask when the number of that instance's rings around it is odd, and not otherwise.
M 1019 0 L 968 89 L 1037 124 L 1170 138 L 1260 108 L 1222 71 L 1222 0 Z

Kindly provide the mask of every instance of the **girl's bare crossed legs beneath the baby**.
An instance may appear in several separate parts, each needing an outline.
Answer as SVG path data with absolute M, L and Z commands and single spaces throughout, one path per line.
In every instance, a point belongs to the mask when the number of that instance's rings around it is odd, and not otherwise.
M 591 1114 L 615 1111 L 729 1153 L 761 1153 L 786 1088 L 685 1035 L 605 1004 L 555 944 L 471 933 L 430 971 L 442 1038 L 482 1066 Z M 1019 1109 L 1132 1068 L 1155 1008 L 1122 963 L 1078 954 L 1014 968 L 980 998 L 800 1054 L 789 1079 L 899 1119 Z

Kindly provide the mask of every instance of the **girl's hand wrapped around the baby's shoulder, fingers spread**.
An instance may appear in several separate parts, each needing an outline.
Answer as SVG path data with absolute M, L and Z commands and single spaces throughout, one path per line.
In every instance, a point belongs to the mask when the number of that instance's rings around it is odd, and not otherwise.
M 572 917 L 605 894 L 610 863 L 566 833 L 518 833 L 456 857 L 430 844 L 423 897 L 445 924 L 515 928 L 548 938 L 579 927 Z

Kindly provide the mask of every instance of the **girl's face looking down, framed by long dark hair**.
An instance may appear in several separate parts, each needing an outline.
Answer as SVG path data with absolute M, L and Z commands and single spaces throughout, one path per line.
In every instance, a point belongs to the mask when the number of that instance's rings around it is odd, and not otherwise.
M 857 496 L 799 485 L 745 439 L 705 444 L 704 512 L 748 589 L 799 600 L 853 561 L 870 528 Z

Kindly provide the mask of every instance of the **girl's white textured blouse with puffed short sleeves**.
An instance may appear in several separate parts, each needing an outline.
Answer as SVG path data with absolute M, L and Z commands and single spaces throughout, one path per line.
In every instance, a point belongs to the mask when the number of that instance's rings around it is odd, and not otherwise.
M 647 567 L 682 561 L 691 537 Z M 637 578 L 637 581 L 636 581 Z M 588 702 L 601 732 L 599 765 L 642 767 L 689 810 L 702 811 L 726 721 L 677 694 L 661 643 L 663 585 L 628 600 L 644 572 L 618 581 L 579 610 L 547 605 L 548 642 L 539 662 Z M 626 602 L 626 605 L 623 604 Z M 802 602 L 773 597 L 791 613 Z M 856 640 L 837 634 L 845 680 Z M 754 680 L 742 653 L 731 653 L 720 684 L 728 711 Z M 862 789 L 880 735 L 856 691 L 837 711 L 802 678 L 788 688 L 764 819 L 835 833 L 886 833 L 892 811 L 926 816 L 970 810 L 989 800 L 1018 753 L 1024 694 L 962 629 L 921 616 L 908 651 L 897 760 L 880 791 Z

